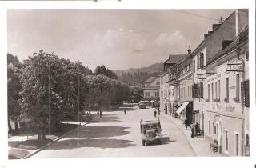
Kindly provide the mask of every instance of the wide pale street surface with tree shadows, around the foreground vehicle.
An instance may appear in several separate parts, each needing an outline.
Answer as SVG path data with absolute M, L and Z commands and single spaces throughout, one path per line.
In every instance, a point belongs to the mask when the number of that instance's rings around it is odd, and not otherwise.
M 154 119 L 154 109 L 103 112 L 101 122 L 82 126 L 31 158 L 195 156 L 182 131 L 162 116 L 162 145 L 142 146 L 141 119 Z

